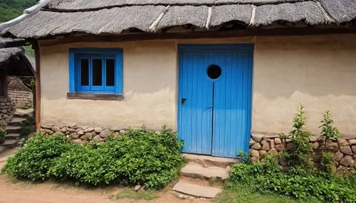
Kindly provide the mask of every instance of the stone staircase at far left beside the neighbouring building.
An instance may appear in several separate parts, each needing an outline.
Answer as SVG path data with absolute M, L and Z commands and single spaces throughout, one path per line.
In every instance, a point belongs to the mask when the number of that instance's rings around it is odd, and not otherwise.
M 31 114 L 33 114 L 33 109 L 16 109 L 13 118 L 5 128 L 5 142 L 2 146 L 10 149 L 19 146 L 21 122 L 25 121 L 26 116 Z

